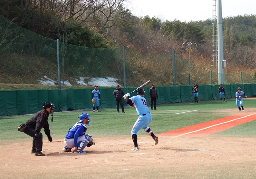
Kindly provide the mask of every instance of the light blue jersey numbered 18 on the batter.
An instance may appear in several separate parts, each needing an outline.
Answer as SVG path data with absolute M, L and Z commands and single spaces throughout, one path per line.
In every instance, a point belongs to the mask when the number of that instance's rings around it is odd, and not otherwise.
M 130 98 L 132 103 L 135 104 L 138 116 L 149 113 L 146 99 L 142 95 L 133 96 Z

